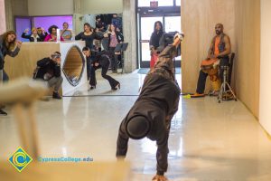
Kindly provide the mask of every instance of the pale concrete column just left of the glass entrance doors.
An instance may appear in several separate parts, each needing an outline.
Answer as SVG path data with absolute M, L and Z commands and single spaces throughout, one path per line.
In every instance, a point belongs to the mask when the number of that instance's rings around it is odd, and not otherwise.
M 124 71 L 132 72 L 136 69 L 136 14 L 135 1 L 123 0 L 123 34 L 125 42 L 129 43 L 125 52 Z

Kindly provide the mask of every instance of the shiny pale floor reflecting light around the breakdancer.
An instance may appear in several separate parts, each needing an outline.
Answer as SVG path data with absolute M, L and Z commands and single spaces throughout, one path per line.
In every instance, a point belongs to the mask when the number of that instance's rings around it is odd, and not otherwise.
M 115 160 L 117 129 L 135 102 L 144 75 L 116 75 L 121 90 L 83 86 L 63 100 L 37 103 L 43 157 L 93 157 Z M 178 75 L 177 79 L 180 79 Z M 20 146 L 14 117 L 0 117 L 0 158 Z M 184 99 L 172 121 L 169 138 L 172 181 L 270 181 L 271 140 L 257 119 L 240 102 L 221 104 L 216 98 Z M 132 163 L 133 181 L 151 180 L 155 173 L 155 143 L 131 140 L 126 160 Z

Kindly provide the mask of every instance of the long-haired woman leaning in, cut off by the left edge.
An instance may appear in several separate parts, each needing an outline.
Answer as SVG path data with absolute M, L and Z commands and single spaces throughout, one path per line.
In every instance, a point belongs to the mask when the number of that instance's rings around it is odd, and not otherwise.
M 20 51 L 22 42 L 16 42 L 16 33 L 8 31 L 0 35 L 0 84 L 2 81 L 8 81 L 8 75 L 4 71 L 5 55 L 14 57 Z M 7 115 L 0 105 L 0 115 Z

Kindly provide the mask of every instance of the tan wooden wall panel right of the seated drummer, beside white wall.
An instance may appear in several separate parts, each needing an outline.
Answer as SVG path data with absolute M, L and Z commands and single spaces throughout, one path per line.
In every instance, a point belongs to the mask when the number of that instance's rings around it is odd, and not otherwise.
M 238 99 L 258 118 L 260 72 L 260 0 L 236 0 L 234 87 Z

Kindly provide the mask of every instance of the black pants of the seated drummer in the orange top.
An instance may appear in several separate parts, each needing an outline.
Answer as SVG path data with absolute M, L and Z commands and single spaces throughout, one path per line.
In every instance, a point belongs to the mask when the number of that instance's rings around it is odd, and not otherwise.
M 221 66 L 229 66 L 229 57 L 225 57 L 220 59 L 220 67 Z M 219 70 L 220 74 L 220 81 L 223 81 L 223 70 Z M 199 74 L 198 84 L 197 84 L 197 93 L 204 93 L 205 90 L 205 84 L 206 84 L 206 78 L 208 76 L 208 73 L 204 73 L 202 70 Z

